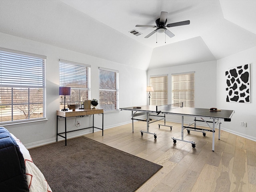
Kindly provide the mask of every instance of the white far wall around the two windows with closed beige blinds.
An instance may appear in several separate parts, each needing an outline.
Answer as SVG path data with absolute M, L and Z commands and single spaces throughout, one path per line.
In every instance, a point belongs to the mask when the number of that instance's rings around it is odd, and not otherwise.
M 182 66 L 171 66 L 148 70 L 147 82 L 150 76 L 168 74 L 168 104 L 172 103 L 172 74 L 195 72 L 195 107 L 216 107 L 216 61 L 194 63 Z M 180 122 L 179 116 L 168 115 L 167 120 Z M 188 120 L 187 120 L 188 119 Z M 186 118 L 184 121 L 190 121 Z

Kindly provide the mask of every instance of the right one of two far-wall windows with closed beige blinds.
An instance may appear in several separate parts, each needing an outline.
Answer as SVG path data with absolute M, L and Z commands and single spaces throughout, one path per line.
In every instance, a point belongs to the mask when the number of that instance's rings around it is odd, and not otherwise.
M 195 73 L 172 74 L 172 104 L 183 102 L 183 106 L 194 107 Z

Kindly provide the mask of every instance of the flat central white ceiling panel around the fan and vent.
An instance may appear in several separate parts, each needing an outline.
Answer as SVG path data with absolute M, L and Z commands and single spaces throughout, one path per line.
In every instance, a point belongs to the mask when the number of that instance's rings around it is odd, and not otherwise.
M 84 12 L 92 18 L 118 30 L 152 48 L 188 40 L 200 36 L 209 27 L 224 20 L 219 1 L 208 0 L 62 0 L 73 8 Z M 155 28 L 135 27 L 136 24 L 156 25 L 161 11 L 168 12 L 167 23 L 190 20 L 191 24 L 168 28 L 176 36 L 166 37 L 165 34 L 156 34 L 144 38 Z M 129 33 L 136 29 L 142 32 L 141 36 Z

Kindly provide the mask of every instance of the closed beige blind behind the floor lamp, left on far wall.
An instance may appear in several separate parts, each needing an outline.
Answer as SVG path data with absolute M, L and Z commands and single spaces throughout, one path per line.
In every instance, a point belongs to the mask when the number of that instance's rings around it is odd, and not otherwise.
M 168 76 L 163 75 L 150 77 L 150 86 L 154 89 L 154 92 L 150 92 L 150 104 L 168 104 Z

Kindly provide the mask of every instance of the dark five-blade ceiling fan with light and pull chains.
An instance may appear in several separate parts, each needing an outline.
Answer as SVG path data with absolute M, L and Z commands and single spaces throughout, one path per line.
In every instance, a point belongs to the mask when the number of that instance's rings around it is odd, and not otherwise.
M 168 12 L 164 12 L 164 11 L 161 12 L 160 18 L 158 18 L 156 20 L 156 26 L 155 25 L 136 25 L 136 27 L 152 27 L 152 28 L 156 28 L 157 27 L 156 30 L 152 31 L 145 38 L 149 38 L 150 36 L 152 36 L 152 34 L 154 34 L 156 32 L 158 32 L 158 33 L 165 33 L 170 38 L 172 38 L 175 35 L 172 32 L 170 32 L 168 29 L 166 29 L 166 27 L 175 27 L 175 26 L 189 25 L 190 24 L 190 20 L 187 20 L 187 21 L 181 21 L 181 22 L 176 22 L 176 23 L 170 23 L 170 24 L 166 25 L 167 14 L 168 14 Z

